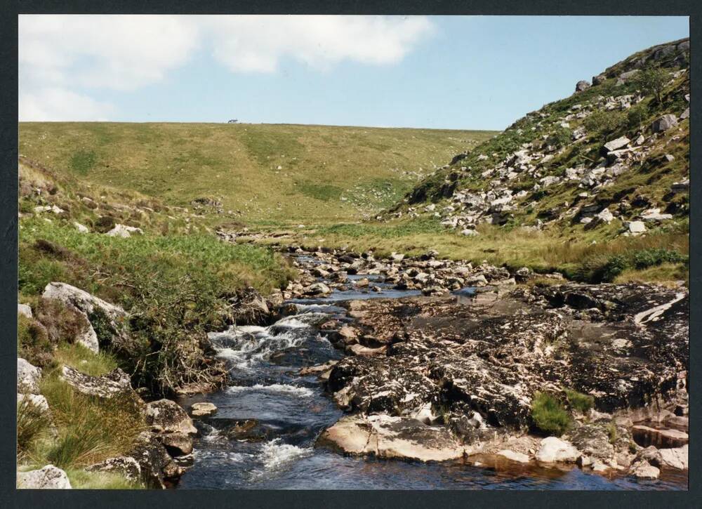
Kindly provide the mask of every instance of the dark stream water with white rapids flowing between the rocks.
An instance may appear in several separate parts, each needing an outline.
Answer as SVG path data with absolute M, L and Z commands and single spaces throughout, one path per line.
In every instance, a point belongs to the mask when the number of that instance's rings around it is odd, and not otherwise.
M 382 293 L 335 291 L 326 298 L 297 300 L 298 314 L 271 326 L 232 326 L 211 334 L 230 366 L 231 385 L 181 401 L 186 408 L 197 401 L 213 402 L 218 411 L 214 418 L 197 422 L 201 437 L 194 465 L 179 489 L 687 489 L 687 472 L 664 472 L 661 480 L 644 482 L 609 479 L 578 468 L 496 463 L 494 458 L 478 467 L 458 461 L 351 458 L 314 448 L 319 433 L 343 412 L 316 376 L 297 372 L 342 357 L 317 328 L 330 318 L 347 320 L 345 309 L 336 305 L 339 300 L 418 293 L 378 286 Z M 466 293 L 472 290 L 458 292 L 457 298 Z M 250 426 L 251 435 L 227 436 L 232 426 Z

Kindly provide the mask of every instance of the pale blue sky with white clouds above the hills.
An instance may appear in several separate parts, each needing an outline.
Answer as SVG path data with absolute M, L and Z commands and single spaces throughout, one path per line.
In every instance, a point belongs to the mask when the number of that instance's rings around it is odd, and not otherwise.
M 20 15 L 20 121 L 501 130 L 687 17 Z

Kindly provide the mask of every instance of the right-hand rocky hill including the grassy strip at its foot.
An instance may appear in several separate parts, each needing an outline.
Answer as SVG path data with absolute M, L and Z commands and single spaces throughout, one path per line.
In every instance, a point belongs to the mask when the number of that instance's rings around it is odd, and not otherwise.
M 635 53 L 464 147 L 379 220 L 293 242 L 437 249 L 595 282 L 685 279 L 689 83 L 689 39 Z

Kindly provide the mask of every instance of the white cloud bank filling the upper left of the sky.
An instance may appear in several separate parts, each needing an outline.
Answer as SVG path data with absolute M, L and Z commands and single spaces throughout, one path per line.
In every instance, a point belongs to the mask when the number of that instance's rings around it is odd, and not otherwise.
M 158 83 L 200 47 L 237 73 L 275 72 L 283 58 L 326 70 L 399 62 L 432 30 L 399 16 L 20 15 L 20 119 L 109 116 L 91 96 Z

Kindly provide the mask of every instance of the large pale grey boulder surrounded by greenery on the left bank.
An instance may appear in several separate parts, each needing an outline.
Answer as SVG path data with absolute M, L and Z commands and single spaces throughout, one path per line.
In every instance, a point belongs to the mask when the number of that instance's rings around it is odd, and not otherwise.
M 88 330 L 77 338 L 77 341 L 89 348 L 93 352 L 100 350 L 98 335 L 93 329 L 92 322 L 96 319 L 101 322 L 102 336 L 105 341 L 105 333 L 110 338 L 109 341 L 116 350 L 131 352 L 133 345 L 131 338 L 126 332 L 127 313 L 119 306 L 112 305 L 105 300 L 92 296 L 90 293 L 65 283 L 51 282 L 44 288 L 42 297 L 48 300 L 58 300 L 68 308 L 81 312 L 88 320 Z M 105 323 L 107 322 L 107 323 Z

